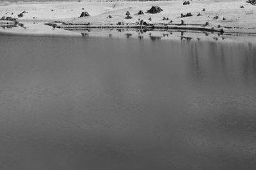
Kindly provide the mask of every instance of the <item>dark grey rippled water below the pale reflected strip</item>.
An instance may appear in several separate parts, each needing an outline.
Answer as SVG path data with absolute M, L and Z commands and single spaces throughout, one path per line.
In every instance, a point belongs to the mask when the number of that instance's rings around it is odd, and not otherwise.
M 0 169 L 255 169 L 256 46 L 0 37 Z

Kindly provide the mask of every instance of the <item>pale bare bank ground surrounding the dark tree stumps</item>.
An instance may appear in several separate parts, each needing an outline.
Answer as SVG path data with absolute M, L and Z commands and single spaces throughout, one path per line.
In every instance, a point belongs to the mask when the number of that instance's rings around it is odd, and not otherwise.
M 63 21 L 68 27 L 84 27 L 90 25 L 115 25 L 118 22 L 135 25 L 138 19 L 143 19 L 148 24 L 165 24 L 168 27 L 177 27 L 184 20 L 186 27 L 204 27 L 216 30 L 224 29 L 225 32 L 256 33 L 256 6 L 246 1 L 209 1 L 193 0 L 190 4 L 183 5 L 183 1 L 73 1 L 73 2 L 45 2 L 45 3 L 1 3 L 0 17 L 17 17 L 22 11 L 24 17 L 19 22 L 53 22 Z M 157 14 L 135 15 L 139 10 L 146 12 L 151 6 L 160 6 L 163 11 Z M 241 8 L 243 6 L 244 8 Z M 205 8 L 205 11 L 203 11 Z M 88 11 L 90 17 L 78 18 L 82 11 Z M 129 11 L 132 19 L 125 19 L 125 13 Z M 191 12 L 192 17 L 180 18 L 180 14 Z M 13 13 L 13 14 L 12 14 Z M 197 16 L 200 13 L 202 16 Z M 107 18 L 111 15 L 113 18 Z M 214 17 L 218 16 L 218 19 Z M 152 18 L 152 21 L 148 18 Z M 163 20 L 168 17 L 169 20 Z M 223 20 L 223 17 L 226 20 Z M 172 24 L 170 24 L 172 20 Z M 61 25 L 67 27 L 67 25 Z M 219 25 L 221 27 L 219 27 Z

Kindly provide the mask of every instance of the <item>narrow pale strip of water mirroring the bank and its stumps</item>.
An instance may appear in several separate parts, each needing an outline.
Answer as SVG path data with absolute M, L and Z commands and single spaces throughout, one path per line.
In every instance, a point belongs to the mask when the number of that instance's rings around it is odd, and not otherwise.
M 212 41 L 216 43 L 255 43 L 254 34 L 230 34 L 224 32 L 191 31 L 189 29 L 133 29 L 133 28 L 87 28 L 87 29 L 59 29 L 49 27 L 44 22 L 26 22 L 23 27 L 17 25 L 12 29 L 1 29 L 0 35 L 19 36 L 54 36 L 75 38 L 115 38 L 115 39 L 151 39 L 152 41 Z

